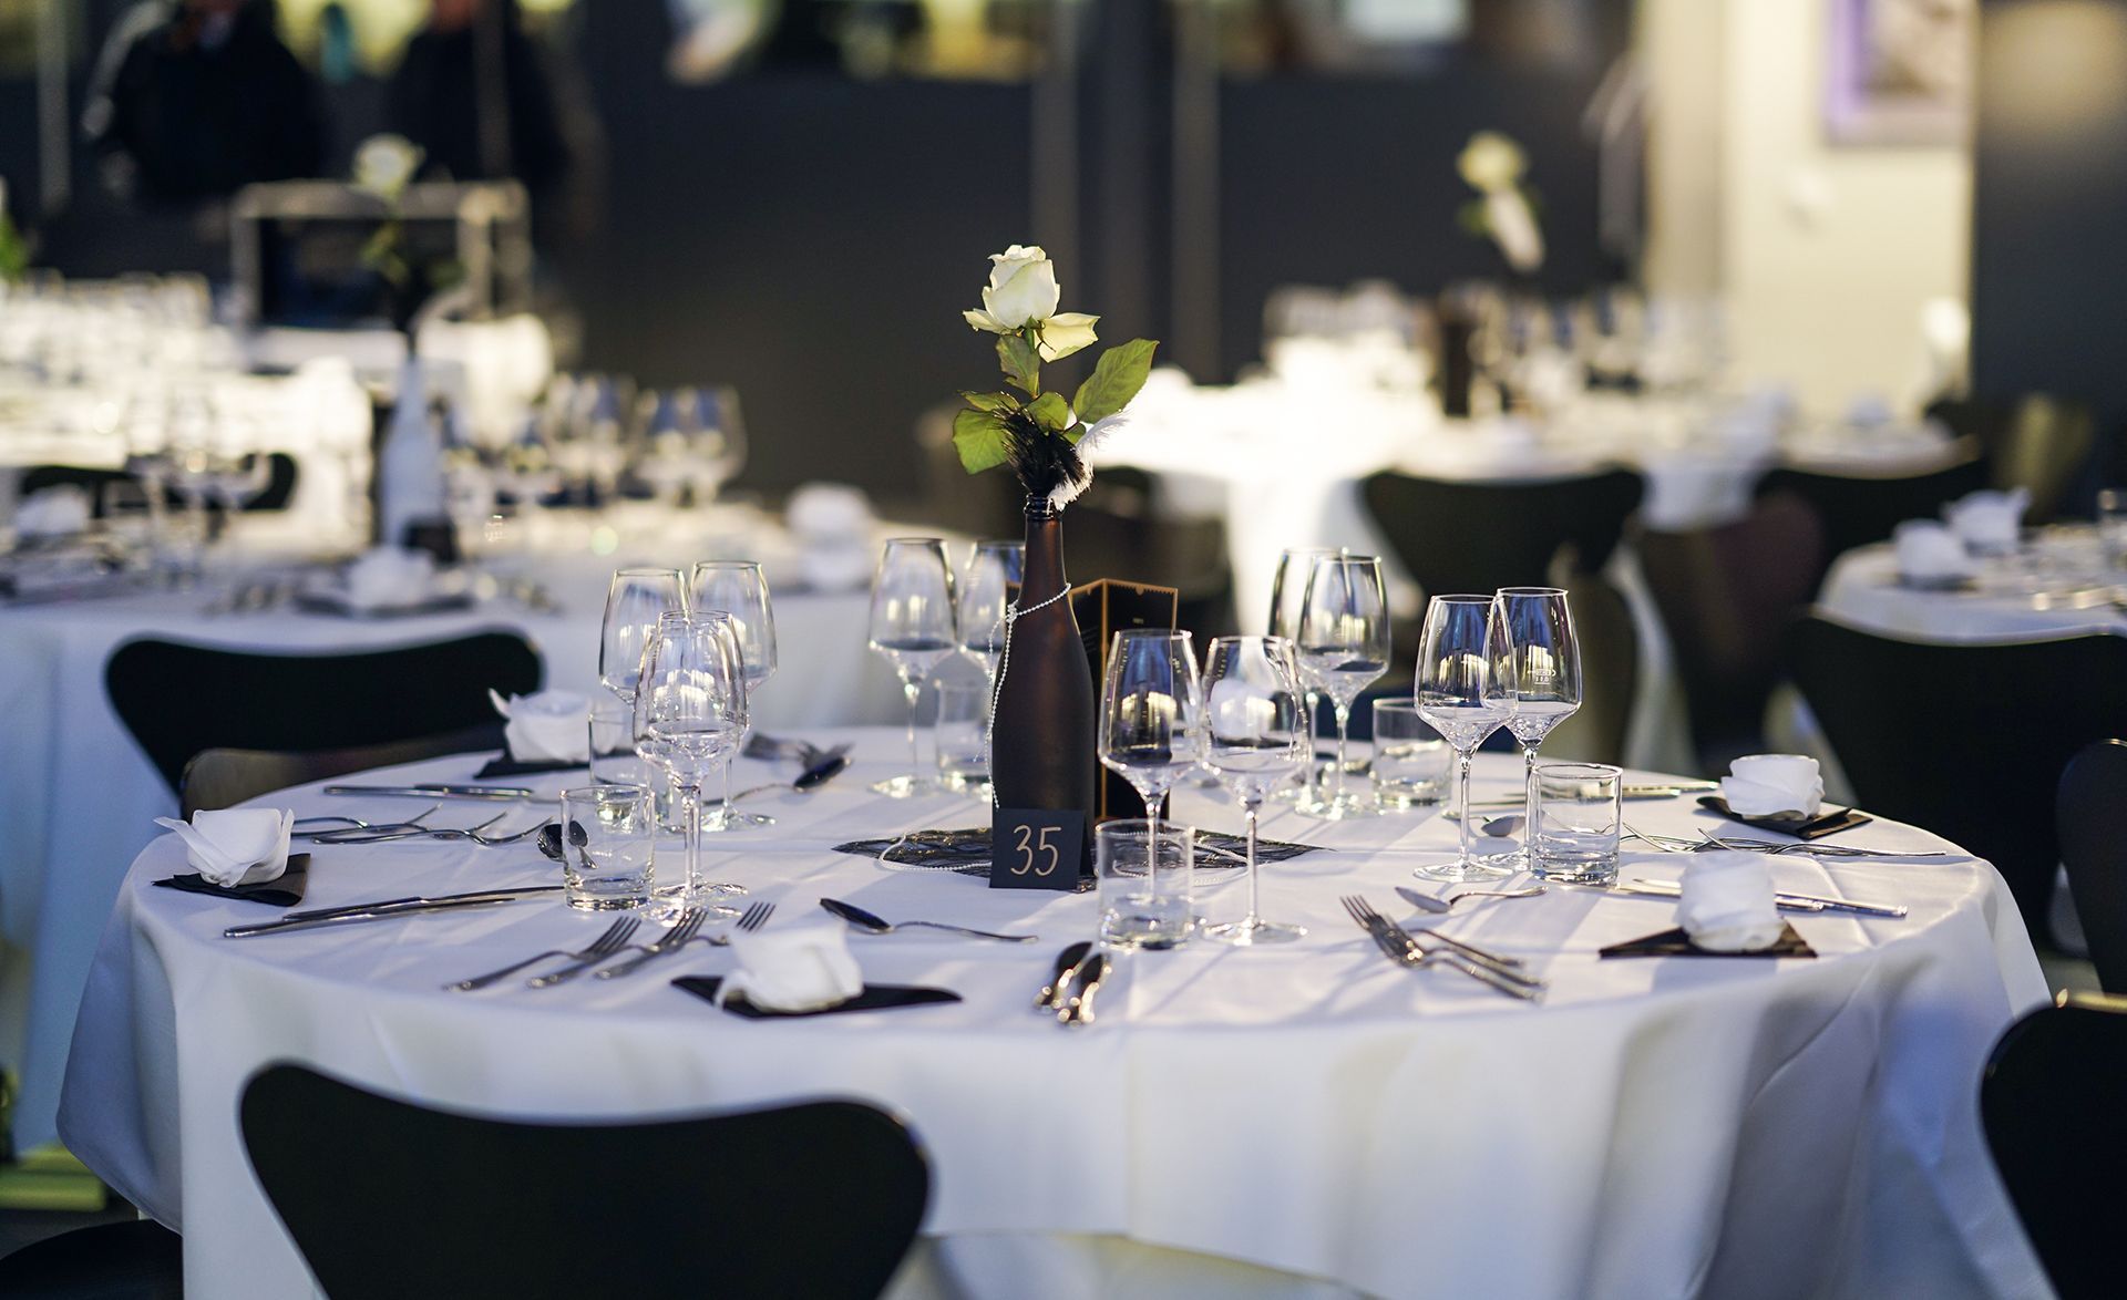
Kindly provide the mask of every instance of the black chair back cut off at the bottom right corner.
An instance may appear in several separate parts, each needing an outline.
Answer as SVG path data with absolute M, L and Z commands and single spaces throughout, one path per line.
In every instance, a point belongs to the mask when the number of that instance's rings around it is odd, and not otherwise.
M 1987 1149 L 2061 1300 L 2127 1279 L 2127 1004 L 2067 998 L 2002 1034 L 1980 1077 Z

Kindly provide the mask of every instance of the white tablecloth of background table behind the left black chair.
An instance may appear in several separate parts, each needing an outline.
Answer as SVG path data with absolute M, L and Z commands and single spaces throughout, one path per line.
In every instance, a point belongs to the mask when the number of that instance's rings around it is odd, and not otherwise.
M 704 543 L 708 547 L 708 543 Z M 132 743 L 104 694 L 104 662 L 136 636 L 236 649 L 359 649 L 415 645 L 500 628 L 523 632 L 547 666 L 547 685 L 598 691 L 598 623 L 606 581 L 627 562 L 691 564 L 725 549 L 615 551 L 498 560 L 540 579 L 559 611 L 532 613 L 496 600 L 479 609 L 411 619 L 340 619 L 279 609 L 259 615 L 202 613 L 225 585 L 79 604 L 0 604 L 0 938 L 17 979 L 0 981 L 13 1019 L 26 1023 L 21 1055 L 0 1040 L 0 1060 L 23 1077 L 15 1111 L 21 1147 L 51 1140 L 66 1040 L 123 864 L 155 832 L 151 817 L 177 800 Z M 770 566 L 770 587 L 789 568 Z M 778 591 L 781 670 L 755 700 L 764 728 L 893 721 L 900 685 L 866 651 L 868 594 Z M 172 689 L 183 689 L 172 683 Z M 21 953 L 28 951 L 28 962 Z M 21 979 L 28 972 L 28 979 Z M 0 1019 L 4 1023 L 4 1019 Z M 4 1038 L 4 1036 L 0 1036 Z

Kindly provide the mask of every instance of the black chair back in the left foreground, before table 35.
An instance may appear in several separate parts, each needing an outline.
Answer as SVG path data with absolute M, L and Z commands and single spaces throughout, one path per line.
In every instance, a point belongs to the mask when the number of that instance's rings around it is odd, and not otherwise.
M 857 1102 L 532 1123 L 281 1064 L 245 1087 L 240 1121 L 332 1300 L 870 1300 L 929 1200 L 915 1136 Z

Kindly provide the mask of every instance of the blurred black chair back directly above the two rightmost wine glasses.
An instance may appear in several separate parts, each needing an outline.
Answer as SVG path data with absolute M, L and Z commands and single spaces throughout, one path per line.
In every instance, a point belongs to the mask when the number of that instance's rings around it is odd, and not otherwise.
M 1646 483 L 1608 470 L 1548 483 L 1451 483 L 1372 474 L 1361 500 L 1427 596 L 1531 587 L 1610 562 Z

